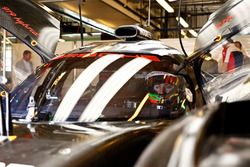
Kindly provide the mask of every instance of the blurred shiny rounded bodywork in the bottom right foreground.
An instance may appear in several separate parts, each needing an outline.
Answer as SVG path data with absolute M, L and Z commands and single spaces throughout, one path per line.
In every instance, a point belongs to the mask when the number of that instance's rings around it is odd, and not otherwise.
M 248 166 L 248 105 L 241 101 L 197 110 L 153 140 L 135 166 Z

